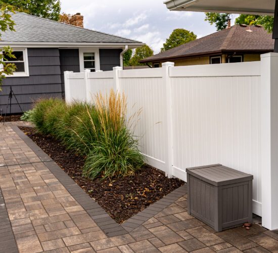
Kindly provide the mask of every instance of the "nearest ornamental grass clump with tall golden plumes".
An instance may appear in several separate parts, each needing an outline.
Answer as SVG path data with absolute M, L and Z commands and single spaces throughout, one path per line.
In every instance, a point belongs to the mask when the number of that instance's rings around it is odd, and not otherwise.
M 140 168 L 143 155 L 138 150 L 138 141 L 127 128 L 126 99 L 113 91 L 109 97 L 98 94 L 96 113 L 99 128 L 91 120 L 91 129 L 95 131 L 96 142 L 91 143 L 83 173 L 95 179 L 124 177 Z

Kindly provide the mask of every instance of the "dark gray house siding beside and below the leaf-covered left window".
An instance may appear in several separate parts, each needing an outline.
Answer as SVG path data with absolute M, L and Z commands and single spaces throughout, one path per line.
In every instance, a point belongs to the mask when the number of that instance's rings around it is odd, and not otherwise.
M 23 109 L 29 110 L 33 101 L 42 97 L 61 97 L 61 70 L 58 49 L 28 49 L 29 77 L 4 79 L 0 92 L 0 110 L 6 112 L 10 86 Z M 16 100 L 12 99 L 12 113 L 19 113 Z M 8 111 L 9 113 L 9 111 Z

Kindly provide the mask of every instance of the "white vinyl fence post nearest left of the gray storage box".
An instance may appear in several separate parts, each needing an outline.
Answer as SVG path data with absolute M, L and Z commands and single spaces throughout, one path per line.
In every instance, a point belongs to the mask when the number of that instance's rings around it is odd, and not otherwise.
M 173 67 L 173 62 L 162 63 L 162 82 L 166 90 L 166 176 L 172 178 L 173 168 L 173 130 L 172 130 L 172 93 L 169 68 Z

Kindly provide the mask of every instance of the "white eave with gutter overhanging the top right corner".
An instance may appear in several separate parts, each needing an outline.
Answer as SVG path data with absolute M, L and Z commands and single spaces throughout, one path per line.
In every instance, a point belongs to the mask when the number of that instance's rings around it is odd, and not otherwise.
M 252 5 L 246 7 L 233 6 L 233 3 L 227 1 L 227 6 L 211 7 L 208 0 L 206 6 L 200 6 L 200 0 L 167 0 L 164 2 L 170 11 L 189 11 L 189 12 L 218 12 L 218 13 L 237 13 L 273 16 L 274 9 L 252 8 Z M 204 3 L 204 1 L 203 1 Z M 263 1 L 261 1 L 263 5 Z

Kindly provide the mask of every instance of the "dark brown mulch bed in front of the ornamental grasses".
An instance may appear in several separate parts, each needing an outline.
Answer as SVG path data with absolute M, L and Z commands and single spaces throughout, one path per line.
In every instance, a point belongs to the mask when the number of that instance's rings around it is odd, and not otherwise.
M 82 177 L 84 157 L 67 151 L 65 146 L 52 136 L 36 133 L 33 128 L 20 129 L 118 223 L 124 222 L 184 184 L 179 179 L 166 178 L 163 172 L 149 165 L 145 165 L 134 176 L 112 181 L 92 181 Z

